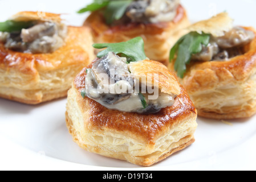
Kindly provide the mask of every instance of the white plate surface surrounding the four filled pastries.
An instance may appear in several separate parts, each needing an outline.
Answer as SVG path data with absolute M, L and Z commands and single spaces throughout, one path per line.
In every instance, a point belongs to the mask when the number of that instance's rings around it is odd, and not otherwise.
M 75 12 L 89 2 L 0 0 L 0 21 L 18 11 L 50 11 L 67 13 L 68 24 L 79 26 L 88 14 Z M 183 0 L 182 4 L 193 22 L 227 11 L 235 24 L 256 27 L 252 0 Z M 0 169 L 256 169 L 256 116 L 229 123 L 198 118 L 192 146 L 151 168 L 141 168 L 80 149 L 66 129 L 65 107 L 66 99 L 38 106 L 0 99 Z

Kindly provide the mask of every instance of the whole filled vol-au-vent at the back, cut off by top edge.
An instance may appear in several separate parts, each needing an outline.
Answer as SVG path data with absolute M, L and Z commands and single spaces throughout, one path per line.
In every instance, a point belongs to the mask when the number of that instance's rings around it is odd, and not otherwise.
M 178 30 L 190 24 L 180 0 L 94 1 L 79 13 L 86 11 L 92 13 L 84 25 L 91 27 L 95 43 L 126 42 L 141 36 L 146 55 L 164 64 L 182 36 Z

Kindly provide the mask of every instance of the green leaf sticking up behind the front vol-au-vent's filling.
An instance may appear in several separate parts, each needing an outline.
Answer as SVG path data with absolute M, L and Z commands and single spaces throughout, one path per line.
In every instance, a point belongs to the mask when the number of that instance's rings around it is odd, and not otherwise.
M 107 48 L 97 54 L 99 58 L 107 55 L 109 52 L 114 52 L 116 55 L 123 54 L 123 56 L 128 57 L 128 63 L 147 59 L 144 51 L 144 41 L 141 37 L 128 40 L 127 42 L 94 44 L 92 46 L 96 49 Z

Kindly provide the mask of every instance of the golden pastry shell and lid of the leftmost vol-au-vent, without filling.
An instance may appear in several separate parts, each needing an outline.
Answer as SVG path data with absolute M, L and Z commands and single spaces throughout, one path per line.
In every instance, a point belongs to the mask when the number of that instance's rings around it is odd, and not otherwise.
M 22 12 L 15 20 L 51 20 L 60 15 Z M 25 104 L 39 104 L 67 96 L 72 80 L 94 59 L 89 28 L 68 27 L 64 45 L 52 53 L 23 53 L 0 43 L 0 97 Z

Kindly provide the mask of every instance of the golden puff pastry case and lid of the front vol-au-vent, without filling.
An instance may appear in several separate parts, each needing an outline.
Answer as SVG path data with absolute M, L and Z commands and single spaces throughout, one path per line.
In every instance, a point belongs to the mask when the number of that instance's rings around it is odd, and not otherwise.
M 109 110 L 81 96 L 88 74 L 87 69 L 83 69 L 68 91 L 66 122 L 74 141 L 84 150 L 141 166 L 151 166 L 194 142 L 197 111 L 185 89 L 178 84 L 173 73 L 156 61 L 135 63 L 131 72 L 139 75 L 139 67 L 143 63 L 148 64 L 146 71 L 163 73 L 159 81 L 175 81 L 173 89 L 168 84 L 160 84 L 160 89 L 170 88 L 172 92 L 178 93 L 174 104 L 156 114 Z M 159 66 L 158 70 L 156 66 Z

